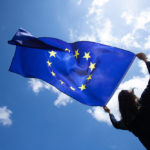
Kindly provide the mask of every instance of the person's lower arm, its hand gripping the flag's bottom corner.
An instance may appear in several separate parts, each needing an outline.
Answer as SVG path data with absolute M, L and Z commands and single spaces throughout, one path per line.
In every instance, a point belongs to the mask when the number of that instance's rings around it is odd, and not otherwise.
M 110 120 L 116 129 L 127 130 L 127 127 L 125 126 L 123 121 L 122 120 L 117 121 L 115 116 L 110 112 L 110 109 L 107 106 L 105 106 L 103 108 L 104 108 L 105 112 L 109 113 Z

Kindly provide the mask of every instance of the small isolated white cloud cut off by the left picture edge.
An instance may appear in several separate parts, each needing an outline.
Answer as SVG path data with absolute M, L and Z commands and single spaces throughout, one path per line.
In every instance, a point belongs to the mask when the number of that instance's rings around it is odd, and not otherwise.
M 0 107 L 0 123 L 4 126 L 8 126 L 12 124 L 12 120 L 10 116 L 12 111 L 9 110 L 6 106 Z

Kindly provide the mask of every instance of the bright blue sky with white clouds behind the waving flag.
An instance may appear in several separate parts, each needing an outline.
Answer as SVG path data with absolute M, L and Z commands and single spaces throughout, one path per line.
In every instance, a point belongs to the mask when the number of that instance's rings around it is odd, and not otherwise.
M 8 45 L 20 27 L 36 37 L 67 42 L 90 40 L 150 54 L 148 0 L 1 0 L 0 149 L 144 150 L 128 131 L 116 130 L 100 107 L 85 106 L 50 85 L 8 71 L 15 47 Z M 108 103 L 119 119 L 117 95 L 147 84 L 144 64 L 135 60 Z

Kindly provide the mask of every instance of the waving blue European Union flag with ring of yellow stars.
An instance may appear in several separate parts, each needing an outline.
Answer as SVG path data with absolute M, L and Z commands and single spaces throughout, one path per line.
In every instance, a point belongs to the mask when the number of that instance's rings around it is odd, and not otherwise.
M 36 38 L 23 29 L 9 43 L 16 45 L 11 72 L 44 80 L 92 106 L 107 104 L 135 58 L 123 49 L 88 41 Z

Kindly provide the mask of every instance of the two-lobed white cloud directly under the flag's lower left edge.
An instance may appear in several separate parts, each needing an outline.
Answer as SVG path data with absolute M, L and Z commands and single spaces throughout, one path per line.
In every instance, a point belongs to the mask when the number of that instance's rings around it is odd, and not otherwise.
M 42 89 L 50 90 L 57 94 L 57 99 L 54 101 L 54 105 L 57 107 L 66 106 L 68 103 L 73 102 L 69 96 L 63 94 L 58 89 L 46 82 L 40 81 L 38 79 L 30 79 L 29 85 L 32 88 L 33 92 L 36 94 L 39 93 Z

